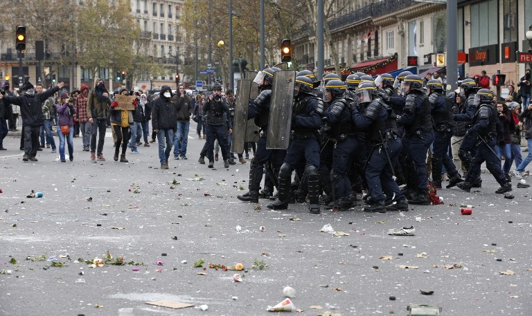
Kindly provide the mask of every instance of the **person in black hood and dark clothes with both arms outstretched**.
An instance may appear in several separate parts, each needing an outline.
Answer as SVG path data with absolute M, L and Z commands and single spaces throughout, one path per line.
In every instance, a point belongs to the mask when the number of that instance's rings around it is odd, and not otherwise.
M 22 131 L 24 135 L 24 157 L 22 161 L 38 161 L 35 156 L 39 148 L 39 127 L 44 124 L 42 120 L 42 102 L 59 91 L 63 86 L 64 82 L 60 82 L 52 89 L 35 94 L 33 84 L 26 82 L 26 92 L 24 92 L 24 95 L 18 97 L 0 95 L 0 99 L 5 99 L 5 101 L 11 104 L 20 106 L 22 123 L 24 124 L 24 131 Z

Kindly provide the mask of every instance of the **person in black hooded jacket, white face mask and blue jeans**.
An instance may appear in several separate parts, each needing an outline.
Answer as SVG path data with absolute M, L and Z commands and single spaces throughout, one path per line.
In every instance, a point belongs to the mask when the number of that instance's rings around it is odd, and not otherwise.
M 157 133 L 157 140 L 159 141 L 161 169 L 168 169 L 168 157 L 172 152 L 174 133 L 177 129 L 177 108 L 172 102 L 170 86 L 163 86 L 161 95 L 153 104 L 152 128 L 153 133 Z

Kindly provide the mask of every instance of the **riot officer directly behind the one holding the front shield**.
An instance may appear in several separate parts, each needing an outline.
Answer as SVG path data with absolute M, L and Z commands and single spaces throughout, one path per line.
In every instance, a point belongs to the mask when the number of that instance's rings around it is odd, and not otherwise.
M 342 80 L 330 80 L 325 86 L 325 96 L 329 100 L 325 117 L 331 126 L 330 140 L 334 142 L 332 149 L 332 170 L 330 182 L 333 210 L 347 210 L 357 204 L 356 196 L 351 193 L 351 181 L 348 169 L 353 162 L 353 154 L 357 147 L 355 125 L 351 120 L 351 109 L 346 100 L 346 85 Z

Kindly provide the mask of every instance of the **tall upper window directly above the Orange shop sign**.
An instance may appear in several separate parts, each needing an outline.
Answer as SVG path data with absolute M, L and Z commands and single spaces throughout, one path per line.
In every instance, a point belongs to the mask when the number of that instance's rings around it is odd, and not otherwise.
M 499 19 L 497 0 L 482 1 L 471 5 L 471 47 L 499 43 Z

